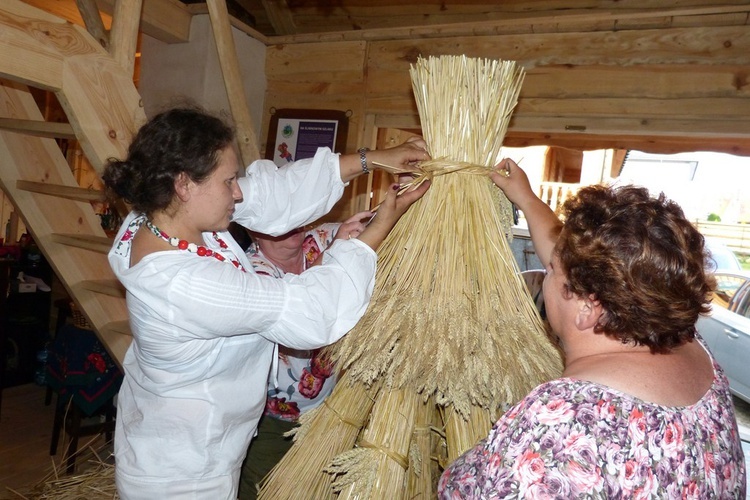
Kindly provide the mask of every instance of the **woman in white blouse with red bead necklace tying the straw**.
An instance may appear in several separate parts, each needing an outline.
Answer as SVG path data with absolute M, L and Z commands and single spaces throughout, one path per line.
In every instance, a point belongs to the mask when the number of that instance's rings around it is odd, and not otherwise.
M 103 174 L 132 209 L 109 252 L 133 333 L 115 430 L 122 500 L 237 498 L 278 344 L 316 349 L 359 321 L 375 250 L 428 189 L 397 196 L 391 185 L 372 223 L 337 240 L 319 265 L 289 280 L 262 276 L 227 231 L 231 221 L 284 234 L 327 213 L 373 162 L 408 171 L 429 155 L 421 139 L 348 155 L 320 148 L 283 169 L 258 160 L 240 178 L 234 140 L 216 116 L 169 109 Z

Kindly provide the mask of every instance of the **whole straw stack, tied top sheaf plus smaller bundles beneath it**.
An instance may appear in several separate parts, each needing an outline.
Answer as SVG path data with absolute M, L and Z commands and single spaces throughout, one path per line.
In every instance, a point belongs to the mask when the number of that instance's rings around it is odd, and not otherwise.
M 420 58 L 411 68 L 433 158 L 412 184 L 431 179 L 432 187 L 378 250 L 367 313 L 329 349 L 347 384 L 380 387 L 356 447 L 327 457 L 333 463 L 327 487 L 335 485 L 340 498 L 434 497 L 434 477 L 410 478 L 415 462 L 407 450 L 416 426 L 424 429 L 425 417 L 416 417 L 420 403 L 439 410 L 442 429 L 435 434 L 453 460 L 487 435 L 503 409 L 562 370 L 510 249 L 511 204 L 488 177 L 501 159 L 523 76 L 513 61 L 462 56 Z M 329 404 L 340 404 L 340 395 Z M 327 433 L 328 426 L 319 413 L 307 422 L 306 436 Z M 335 434 L 318 438 L 328 450 L 331 440 L 345 448 Z M 282 460 L 261 498 L 312 498 L 278 488 L 320 480 L 320 469 L 302 465 L 307 461 L 299 456 L 319 461 L 325 451 L 309 439 L 292 451 L 301 468 Z

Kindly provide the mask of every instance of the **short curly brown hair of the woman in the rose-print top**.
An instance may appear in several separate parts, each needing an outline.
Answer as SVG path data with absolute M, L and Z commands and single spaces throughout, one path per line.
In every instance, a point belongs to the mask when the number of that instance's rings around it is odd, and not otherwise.
M 598 300 L 595 331 L 667 352 L 695 336 L 715 281 L 704 238 L 663 193 L 584 187 L 562 207 L 555 252 L 571 293 Z

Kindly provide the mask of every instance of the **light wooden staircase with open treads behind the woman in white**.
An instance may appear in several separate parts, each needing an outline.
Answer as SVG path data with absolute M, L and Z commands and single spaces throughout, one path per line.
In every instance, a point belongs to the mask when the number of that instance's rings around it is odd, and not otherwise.
M 86 30 L 18 0 L 3 0 L 0 33 L 0 183 L 121 363 L 131 336 L 125 291 L 107 261 L 112 241 L 91 205 L 102 193 L 78 186 L 54 138 L 77 138 L 99 173 L 108 158 L 124 157 L 145 121 L 132 66 L 118 63 Z M 45 122 L 28 86 L 54 92 L 70 124 Z

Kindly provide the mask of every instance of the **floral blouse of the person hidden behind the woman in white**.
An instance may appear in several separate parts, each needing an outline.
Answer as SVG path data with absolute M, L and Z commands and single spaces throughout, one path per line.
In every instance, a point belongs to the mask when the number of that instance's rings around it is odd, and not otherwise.
M 302 242 L 304 269 L 309 268 L 333 241 L 340 224 L 322 224 L 308 231 Z M 263 255 L 257 244 L 247 250 L 250 264 L 258 274 L 282 278 L 284 271 Z M 320 349 L 300 351 L 279 346 L 278 386 L 270 377 L 264 415 L 296 422 L 299 416 L 320 405 L 333 391 L 336 377 L 333 365 L 323 359 Z

